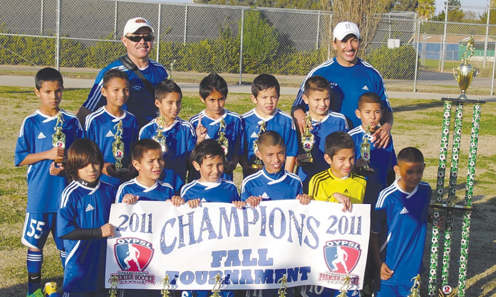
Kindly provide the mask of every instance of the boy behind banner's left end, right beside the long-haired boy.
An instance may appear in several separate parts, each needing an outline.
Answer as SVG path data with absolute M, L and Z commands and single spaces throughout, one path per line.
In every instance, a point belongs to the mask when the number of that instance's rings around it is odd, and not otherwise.
M 183 204 L 181 197 L 174 196 L 172 186 L 159 180 L 164 169 L 163 156 L 162 146 L 152 139 L 134 143 L 131 148 L 131 162 L 139 175 L 119 187 L 116 203 L 134 203 L 139 199 L 172 201 L 176 206 Z

